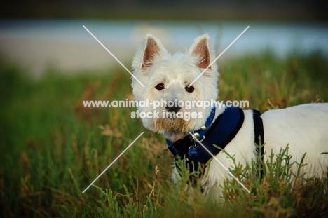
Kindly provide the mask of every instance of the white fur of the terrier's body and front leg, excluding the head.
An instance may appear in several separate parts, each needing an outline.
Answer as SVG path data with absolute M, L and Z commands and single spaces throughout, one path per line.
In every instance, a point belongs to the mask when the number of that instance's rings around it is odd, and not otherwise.
M 252 111 L 245 110 L 245 121 L 235 138 L 226 146 L 228 154 L 235 155 L 237 164 L 245 166 L 254 156 L 254 125 Z M 301 162 L 306 153 L 301 168 L 301 174 L 305 177 L 318 177 L 327 175 L 328 157 L 322 152 L 328 151 L 328 104 L 302 104 L 286 109 L 266 111 L 261 115 L 264 125 L 264 161 L 270 160 L 271 151 L 279 154 L 280 149 L 285 149 L 288 144 L 288 153 L 292 156 L 291 162 Z M 216 156 L 227 168 L 234 165 L 226 154 L 220 152 Z M 276 156 L 275 156 L 276 157 Z M 273 161 L 275 161 L 275 157 Z M 221 197 L 221 189 L 224 180 L 230 176 L 221 168 L 217 161 L 211 161 L 206 169 L 203 183 L 207 197 Z M 292 172 L 297 172 L 297 165 L 292 165 Z

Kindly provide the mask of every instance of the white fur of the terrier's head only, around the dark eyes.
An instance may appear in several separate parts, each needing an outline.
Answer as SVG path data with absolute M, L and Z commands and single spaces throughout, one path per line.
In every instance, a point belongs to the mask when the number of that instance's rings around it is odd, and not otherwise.
M 149 69 L 142 69 L 142 57 L 144 56 L 144 49 L 146 46 L 146 41 L 149 37 L 153 38 L 160 50 L 158 55 L 153 58 L 153 66 Z M 184 90 L 184 87 L 189 85 L 201 72 L 202 70 L 197 67 L 199 62 L 199 56 L 193 53 L 194 46 L 201 39 L 209 39 L 209 36 L 204 35 L 198 37 L 195 43 L 188 52 L 186 53 L 176 53 L 171 55 L 163 47 L 160 41 L 151 34 L 147 34 L 146 39 L 142 42 L 142 45 L 138 48 L 137 53 L 133 59 L 132 68 L 134 69 L 133 74 L 141 81 L 146 88 L 143 88 L 135 79 L 132 79 L 133 94 L 137 101 L 148 99 L 150 102 L 155 100 L 216 100 L 217 98 L 217 64 L 212 65 L 212 69 L 209 69 L 201 76 L 194 84 L 195 92 L 191 95 Z M 214 52 L 210 50 L 211 55 L 214 56 Z M 158 83 L 165 84 L 165 90 L 159 92 L 154 87 Z M 206 84 L 206 86 L 204 86 Z M 191 119 L 188 126 L 189 130 L 197 130 L 204 123 L 207 116 L 210 115 L 210 108 L 202 109 L 200 107 L 194 107 L 192 109 L 182 108 L 182 112 L 185 111 L 200 111 L 203 114 L 203 118 Z M 153 111 L 152 105 L 149 107 L 139 107 L 139 111 Z M 156 111 L 165 111 L 165 107 L 158 107 Z M 156 132 L 163 132 L 167 137 L 172 136 L 170 131 L 158 129 L 156 126 L 156 119 L 143 119 L 144 127 L 149 128 L 149 130 L 154 130 Z M 183 132 L 184 134 L 185 132 Z M 169 136 L 170 135 L 170 136 Z M 175 134 L 173 134 L 175 135 Z M 176 139 L 176 138 L 175 138 Z

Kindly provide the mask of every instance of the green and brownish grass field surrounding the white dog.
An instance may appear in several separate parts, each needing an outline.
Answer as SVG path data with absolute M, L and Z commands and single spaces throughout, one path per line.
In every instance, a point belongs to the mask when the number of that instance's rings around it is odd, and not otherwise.
M 249 100 L 261 111 L 328 101 L 328 62 L 319 52 L 284 60 L 266 52 L 219 67 L 220 100 Z M 234 169 L 252 193 L 227 182 L 223 206 L 205 203 L 199 191 L 188 203 L 170 181 L 163 137 L 130 118 L 135 108 L 83 107 L 82 100 L 131 99 L 130 74 L 121 67 L 69 74 L 49 68 L 35 81 L 0 61 L 0 217 L 328 217 L 328 180 L 288 184 L 289 165 L 280 163 L 262 181 Z M 278 162 L 288 158 L 282 152 Z

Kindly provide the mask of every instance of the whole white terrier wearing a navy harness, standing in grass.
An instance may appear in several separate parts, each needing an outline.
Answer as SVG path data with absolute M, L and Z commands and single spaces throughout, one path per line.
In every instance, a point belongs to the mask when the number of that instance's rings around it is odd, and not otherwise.
M 145 86 L 132 79 L 135 100 L 149 102 L 138 107 L 146 115 L 142 118 L 144 127 L 163 133 L 176 163 L 185 163 L 191 180 L 202 177 L 205 196 L 218 200 L 222 196 L 220 187 L 230 176 L 195 138 L 226 168 L 234 168 L 227 154 L 242 166 L 252 161 L 259 163 L 257 153 L 261 149 L 255 144 L 264 144 L 261 153 L 265 164 L 271 153 L 278 154 L 288 144 L 291 161 L 300 163 L 306 154 L 302 168 L 306 177 L 327 175 L 328 156 L 323 154 L 328 151 L 327 103 L 303 104 L 264 114 L 212 103 L 204 107 L 204 102 L 215 102 L 218 95 L 219 74 L 217 64 L 212 64 L 215 56 L 209 39 L 204 34 L 184 53 L 170 54 L 156 36 L 146 35 L 132 62 L 134 76 Z M 177 167 L 172 175 L 175 182 L 181 178 Z

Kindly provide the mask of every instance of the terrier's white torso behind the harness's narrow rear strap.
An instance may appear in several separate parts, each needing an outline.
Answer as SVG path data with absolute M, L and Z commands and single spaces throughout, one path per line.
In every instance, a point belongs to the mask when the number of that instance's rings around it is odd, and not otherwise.
M 303 166 L 305 177 L 322 177 L 328 167 L 328 104 L 303 104 L 262 114 L 266 155 L 278 154 L 288 144 L 292 161 Z M 296 165 L 294 165 L 296 168 Z M 293 171 L 296 169 L 292 169 Z

